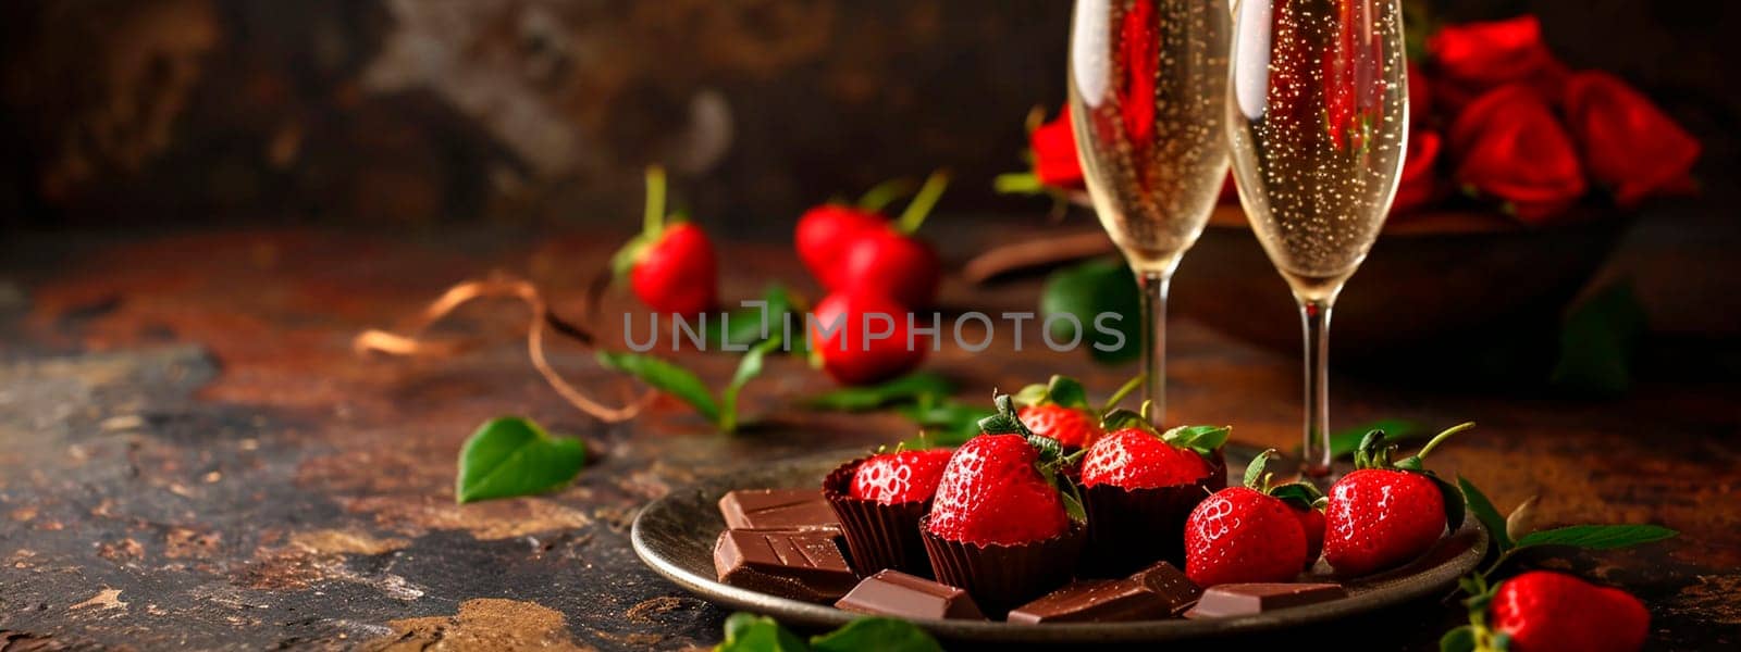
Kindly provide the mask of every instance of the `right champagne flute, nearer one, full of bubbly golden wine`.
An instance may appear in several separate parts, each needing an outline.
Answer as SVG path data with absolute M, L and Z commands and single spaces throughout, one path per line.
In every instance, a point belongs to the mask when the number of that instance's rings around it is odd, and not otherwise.
M 1302 471 L 1330 475 L 1330 308 L 1377 240 L 1408 134 L 1398 0 L 1240 0 L 1227 136 L 1252 231 L 1306 332 Z

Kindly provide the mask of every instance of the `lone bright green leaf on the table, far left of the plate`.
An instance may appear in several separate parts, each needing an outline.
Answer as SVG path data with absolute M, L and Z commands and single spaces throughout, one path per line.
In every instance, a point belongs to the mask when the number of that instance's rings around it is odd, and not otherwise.
M 587 462 L 587 447 L 555 438 L 521 417 L 498 417 L 477 428 L 460 449 L 454 501 L 531 496 L 562 489 Z

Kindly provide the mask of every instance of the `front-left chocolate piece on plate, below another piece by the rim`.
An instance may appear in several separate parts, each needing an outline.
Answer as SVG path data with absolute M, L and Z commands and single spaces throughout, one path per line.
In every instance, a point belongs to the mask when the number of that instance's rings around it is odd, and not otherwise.
M 719 581 L 806 602 L 832 602 L 858 575 L 829 532 L 724 530 L 714 544 Z

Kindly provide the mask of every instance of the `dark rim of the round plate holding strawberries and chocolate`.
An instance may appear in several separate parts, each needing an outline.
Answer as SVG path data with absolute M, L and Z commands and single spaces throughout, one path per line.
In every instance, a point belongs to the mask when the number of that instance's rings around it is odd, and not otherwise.
M 1240 447 L 1238 443 L 1229 443 L 1229 447 Z M 1255 449 L 1254 449 L 1255 450 Z M 851 459 L 862 456 L 862 449 L 841 449 L 813 456 L 787 457 L 778 461 L 780 466 L 803 466 L 803 464 L 837 464 L 841 459 Z M 712 489 L 721 489 L 733 478 L 745 478 L 754 475 L 768 473 L 768 468 L 749 468 L 729 473 L 714 475 L 709 478 L 696 480 L 693 483 L 682 485 L 667 492 L 662 497 L 648 501 L 630 523 L 629 541 L 648 569 L 653 569 L 658 575 L 665 577 L 672 584 L 677 584 L 684 591 L 689 591 L 707 602 L 729 607 L 733 610 L 749 610 L 756 614 L 775 615 L 787 626 L 841 626 L 855 617 L 864 617 L 865 614 L 846 612 L 832 605 L 818 605 L 801 600 L 790 600 L 775 596 L 770 593 L 752 591 L 738 586 L 729 586 L 719 582 L 714 577 L 698 575 L 674 560 L 663 558 L 653 551 L 651 542 L 646 534 L 648 513 L 674 502 L 677 496 L 689 492 L 709 494 Z M 724 489 L 729 490 L 729 489 Z M 905 619 L 912 624 L 924 628 L 926 631 L 952 640 L 982 640 L 982 642 L 1081 642 L 1081 643 L 1109 643 L 1109 642 L 1166 642 L 1182 638 L 1207 638 L 1207 636 L 1226 636 L 1226 635 L 1243 635 L 1273 631 L 1283 628 L 1295 628 L 1313 622 L 1335 621 L 1341 617 L 1351 617 L 1365 614 L 1375 609 L 1391 607 L 1398 603 L 1407 603 L 1415 598 L 1422 598 L 1433 591 L 1450 588 L 1457 582 L 1457 577 L 1473 570 L 1480 565 L 1482 558 L 1487 555 L 1489 536 L 1480 520 L 1473 513 L 1464 513 L 1462 525 L 1450 536 L 1440 541 L 1450 541 L 1459 534 L 1471 534 L 1475 541 L 1468 549 L 1447 558 L 1445 562 L 1426 569 L 1414 575 L 1386 577 L 1384 574 L 1375 575 L 1375 581 L 1395 582 L 1395 586 L 1370 589 L 1349 595 L 1348 598 L 1292 607 L 1285 610 L 1241 615 L 1241 617 L 1224 617 L 1224 619 L 1165 619 L 1165 621 L 1125 621 L 1125 622 L 1052 622 L 1052 624 L 1008 624 L 1001 621 L 961 621 L 961 619 Z M 1403 579 L 1412 579 L 1403 582 Z

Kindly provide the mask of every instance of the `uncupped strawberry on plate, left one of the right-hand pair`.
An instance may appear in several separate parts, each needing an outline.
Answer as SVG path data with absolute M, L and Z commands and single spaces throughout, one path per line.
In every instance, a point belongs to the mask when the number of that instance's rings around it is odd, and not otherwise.
M 1269 454 L 1245 469 L 1245 487 L 1215 492 L 1186 518 L 1186 575 L 1198 586 L 1285 582 L 1306 565 L 1299 516 L 1264 487 Z

